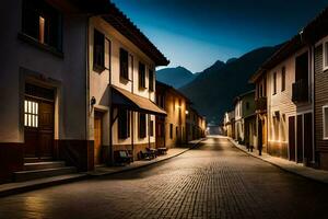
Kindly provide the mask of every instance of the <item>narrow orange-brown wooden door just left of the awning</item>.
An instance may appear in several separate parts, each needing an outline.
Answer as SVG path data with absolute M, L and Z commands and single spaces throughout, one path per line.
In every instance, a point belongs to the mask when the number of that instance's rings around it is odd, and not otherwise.
M 98 112 L 94 113 L 94 163 L 101 164 L 102 159 L 102 114 Z

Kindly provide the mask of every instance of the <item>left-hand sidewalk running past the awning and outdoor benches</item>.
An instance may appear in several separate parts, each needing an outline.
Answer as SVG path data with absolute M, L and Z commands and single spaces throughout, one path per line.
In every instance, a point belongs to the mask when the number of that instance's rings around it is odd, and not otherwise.
M 150 161 L 134 161 L 133 163 L 125 166 L 97 166 L 94 171 L 84 172 L 84 173 L 74 173 L 67 175 L 59 175 L 54 177 L 45 177 L 33 181 L 20 182 L 20 183 L 7 183 L 0 184 L 0 197 L 14 195 L 19 193 L 25 193 L 34 189 L 45 188 L 54 185 L 60 185 L 66 183 L 71 183 L 75 181 L 97 177 L 102 175 L 110 175 L 115 173 L 121 173 L 125 171 L 131 171 L 136 169 L 140 169 L 143 166 L 152 165 L 154 163 L 159 163 L 172 158 L 175 158 L 186 151 L 195 148 L 199 142 L 204 139 L 198 139 L 194 141 L 189 141 L 186 148 L 172 148 L 167 150 L 167 154 L 160 155 L 156 159 Z

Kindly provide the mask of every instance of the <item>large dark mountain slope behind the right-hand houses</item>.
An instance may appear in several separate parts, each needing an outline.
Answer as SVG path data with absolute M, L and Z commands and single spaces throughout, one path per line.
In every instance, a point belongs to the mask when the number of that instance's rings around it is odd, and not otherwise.
M 254 89 L 248 83 L 250 76 L 279 47 L 261 47 L 226 64 L 216 61 L 179 91 L 207 116 L 209 123 L 219 124 L 224 112 L 232 110 L 234 97 Z

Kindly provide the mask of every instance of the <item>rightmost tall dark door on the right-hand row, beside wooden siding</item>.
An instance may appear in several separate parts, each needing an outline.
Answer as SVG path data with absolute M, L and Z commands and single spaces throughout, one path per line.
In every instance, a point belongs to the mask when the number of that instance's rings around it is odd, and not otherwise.
M 304 114 L 304 159 L 305 164 L 309 165 L 313 160 L 313 132 L 312 113 Z

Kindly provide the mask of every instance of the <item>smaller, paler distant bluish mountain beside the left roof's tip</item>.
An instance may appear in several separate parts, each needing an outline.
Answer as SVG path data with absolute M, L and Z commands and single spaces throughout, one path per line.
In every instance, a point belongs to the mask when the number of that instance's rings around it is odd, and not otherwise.
M 196 76 L 184 67 L 164 68 L 156 71 L 156 80 L 169 84 L 173 88 L 181 88 L 191 82 Z

